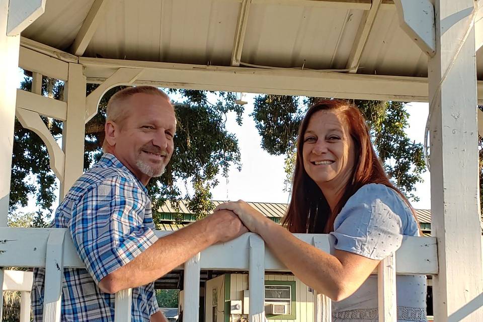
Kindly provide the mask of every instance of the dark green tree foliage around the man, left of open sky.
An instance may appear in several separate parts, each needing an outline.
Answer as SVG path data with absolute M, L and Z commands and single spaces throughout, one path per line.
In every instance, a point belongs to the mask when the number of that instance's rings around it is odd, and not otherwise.
M 27 73 L 27 72 L 26 72 Z M 21 88 L 29 91 L 32 80 L 24 79 Z M 43 95 L 62 99 L 63 83 L 55 79 L 43 79 Z M 98 85 L 88 84 L 87 94 Z M 84 170 L 89 169 L 102 155 L 104 122 L 107 103 L 112 95 L 124 87 L 109 90 L 101 99 L 98 113 L 86 124 Z M 211 103 L 207 95 L 216 95 L 216 103 Z M 238 124 L 244 108 L 235 104 L 235 95 L 224 92 L 207 92 L 170 89 L 169 94 L 181 95 L 183 102 L 174 103 L 178 119 L 178 129 L 174 137 L 175 150 L 165 175 L 152 178 L 148 190 L 152 196 L 153 216 L 156 222 L 157 208 L 166 200 L 176 204 L 180 199 L 189 200 L 188 207 L 198 216 L 212 209 L 211 189 L 218 184 L 216 176 L 221 172 L 228 175 L 228 169 L 235 165 L 240 169 L 240 154 L 236 137 L 225 129 L 226 114 L 236 113 Z M 42 118 L 55 138 L 62 135 L 62 122 Z M 35 178 L 36 182 L 29 180 Z M 193 190 L 193 195 L 182 195 L 176 183 L 181 180 Z M 10 210 L 19 205 L 26 206 L 29 194 L 37 198 L 37 205 L 44 213 L 51 211 L 55 201 L 55 176 L 49 168 L 47 149 L 42 140 L 30 130 L 24 129 L 16 120 L 14 157 L 12 164 L 12 186 Z M 39 212 L 34 218 L 34 226 L 46 223 Z

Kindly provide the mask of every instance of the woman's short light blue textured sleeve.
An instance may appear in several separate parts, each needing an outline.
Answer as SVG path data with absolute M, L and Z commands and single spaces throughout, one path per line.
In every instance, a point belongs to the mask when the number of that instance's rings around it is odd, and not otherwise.
M 337 250 L 382 260 L 401 246 L 403 222 L 393 211 L 398 208 L 393 204 L 403 201 L 390 188 L 368 186 L 371 187 L 360 188 L 347 201 L 336 217 L 331 235 Z

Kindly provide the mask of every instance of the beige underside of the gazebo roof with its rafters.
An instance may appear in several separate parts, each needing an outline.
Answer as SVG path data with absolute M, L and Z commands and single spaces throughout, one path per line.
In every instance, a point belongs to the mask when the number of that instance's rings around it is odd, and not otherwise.
M 387 0 L 49 0 L 22 36 L 93 58 L 427 76 Z M 481 50 L 477 65 L 483 81 Z

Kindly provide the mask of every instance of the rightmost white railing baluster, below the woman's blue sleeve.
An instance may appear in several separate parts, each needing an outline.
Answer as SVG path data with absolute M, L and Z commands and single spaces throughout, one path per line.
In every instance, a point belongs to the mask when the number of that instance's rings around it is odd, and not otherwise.
M 396 261 L 394 253 L 377 266 L 379 321 L 396 322 Z

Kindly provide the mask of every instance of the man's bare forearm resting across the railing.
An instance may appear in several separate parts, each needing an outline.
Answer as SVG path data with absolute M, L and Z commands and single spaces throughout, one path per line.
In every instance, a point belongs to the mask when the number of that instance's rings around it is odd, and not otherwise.
M 216 235 L 208 231 L 210 223 L 211 220 L 205 218 L 159 238 L 131 262 L 104 277 L 99 288 L 115 293 L 162 277 L 218 241 Z

